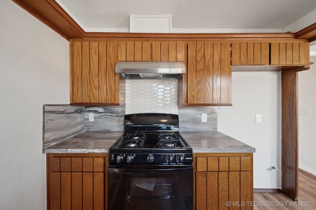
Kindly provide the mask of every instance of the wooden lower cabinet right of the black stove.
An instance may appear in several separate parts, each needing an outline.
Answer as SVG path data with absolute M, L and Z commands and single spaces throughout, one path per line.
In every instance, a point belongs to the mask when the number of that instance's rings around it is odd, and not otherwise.
M 252 210 L 252 153 L 194 153 L 196 210 Z

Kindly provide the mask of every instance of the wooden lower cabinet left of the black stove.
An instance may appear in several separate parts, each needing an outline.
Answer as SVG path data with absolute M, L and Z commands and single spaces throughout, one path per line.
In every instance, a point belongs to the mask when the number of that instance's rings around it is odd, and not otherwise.
M 47 154 L 47 210 L 106 210 L 107 154 Z

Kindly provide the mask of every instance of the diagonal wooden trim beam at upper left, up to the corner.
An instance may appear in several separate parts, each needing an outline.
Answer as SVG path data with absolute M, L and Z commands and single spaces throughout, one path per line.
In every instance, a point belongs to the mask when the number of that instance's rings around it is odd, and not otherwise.
M 62 37 L 83 38 L 84 30 L 54 0 L 12 0 Z

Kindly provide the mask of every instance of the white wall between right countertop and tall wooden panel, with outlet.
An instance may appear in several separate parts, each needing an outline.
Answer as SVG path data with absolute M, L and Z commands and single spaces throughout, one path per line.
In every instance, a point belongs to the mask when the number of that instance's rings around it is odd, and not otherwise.
M 233 106 L 218 107 L 218 131 L 256 149 L 254 188 L 280 188 L 280 170 L 267 170 L 281 165 L 280 72 L 233 72 L 232 89 Z

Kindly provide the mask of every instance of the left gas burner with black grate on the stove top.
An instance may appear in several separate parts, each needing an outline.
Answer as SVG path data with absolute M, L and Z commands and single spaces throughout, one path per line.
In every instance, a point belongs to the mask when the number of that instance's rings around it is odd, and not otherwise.
M 142 148 L 144 144 L 144 132 L 125 133 L 123 140 L 119 144 L 119 148 Z

